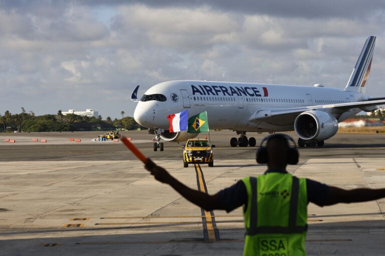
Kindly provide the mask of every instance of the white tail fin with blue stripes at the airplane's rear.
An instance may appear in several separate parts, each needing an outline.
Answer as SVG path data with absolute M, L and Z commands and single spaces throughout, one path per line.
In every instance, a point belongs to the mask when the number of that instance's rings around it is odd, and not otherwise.
M 358 91 L 361 93 L 366 92 L 365 83 L 370 72 L 374 44 L 375 36 L 370 35 L 363 45 L 361 54 L 359 55 L 357 63 L 351 72 L 345 90 Z

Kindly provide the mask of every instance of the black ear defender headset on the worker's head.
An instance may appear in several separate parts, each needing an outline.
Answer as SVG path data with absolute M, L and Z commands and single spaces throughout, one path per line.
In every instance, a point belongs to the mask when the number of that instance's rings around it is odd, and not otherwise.
M 267 163 L 269 161 L 269 157 L 267 155 L 267 149 L 266 146 L 263 146 L 263 143 L 266 141 L 269 141 L 272 138 L 283 138 L 287 140 L 287 143 L 289 144 L 290 141 L 294 143 L 294 146 L 289 146 L 287 151 L 287 163 L 288 164 L 297 164 L 299 153 L 298 149 L 295 147 L 295 141 L 292 137 L 289 135 L 283 134 L 283 133 L 276 133 L 271 134 L 269 136 L 266 136 L 264 139 L 262 139 L 261 144 L 257 150 L 257 162 L 258 163 Z

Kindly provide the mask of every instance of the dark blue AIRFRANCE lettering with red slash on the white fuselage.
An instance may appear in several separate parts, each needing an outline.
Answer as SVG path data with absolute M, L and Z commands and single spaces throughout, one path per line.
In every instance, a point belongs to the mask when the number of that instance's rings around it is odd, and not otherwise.
M 193 95 L 213 95 L 213 96 L 246 96 L 246 97 L 267 97 L 269 92 L 267 87 L 262 87 L 263 95 L 257 87 L 249 86 L 223 86 L 223 85 L 193 85 L 191 84 Z

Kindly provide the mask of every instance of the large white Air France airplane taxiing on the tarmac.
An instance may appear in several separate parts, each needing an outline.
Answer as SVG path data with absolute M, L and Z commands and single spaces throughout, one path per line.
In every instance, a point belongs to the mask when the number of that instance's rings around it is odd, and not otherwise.
M 184 141 L 198 133 L 169 132 L 167 115 L 188 109 L 189 116 L 207 111 L 211 129 L 231 129 L 238 138 L 231 146 L 255 146 L 256 139 L 246 132 L 294 130 L 298 146 L 323 146 L 338 130 L 338 122 L 360 112 L 373 111 L 385 97 L 369 97 L 366 81 L 370 72 L 375 36 L 369 36 L 344 89 L 206 80 L 174 80 L 153 85 L 131 100 L 138 101 L 134 119 L 156 134 L 154 150 L 163 150 L 165 141 Z

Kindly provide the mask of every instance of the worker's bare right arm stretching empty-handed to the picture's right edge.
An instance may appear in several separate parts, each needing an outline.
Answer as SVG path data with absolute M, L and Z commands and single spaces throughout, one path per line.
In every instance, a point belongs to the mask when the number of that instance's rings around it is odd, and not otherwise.
M 382 197 L 385 197 L 385 188 L 356 188 L 346 190 L 335 186 L 329 186 L 329 195 L 325 205 L 332 205 L 339 202 L 363 202 Z

